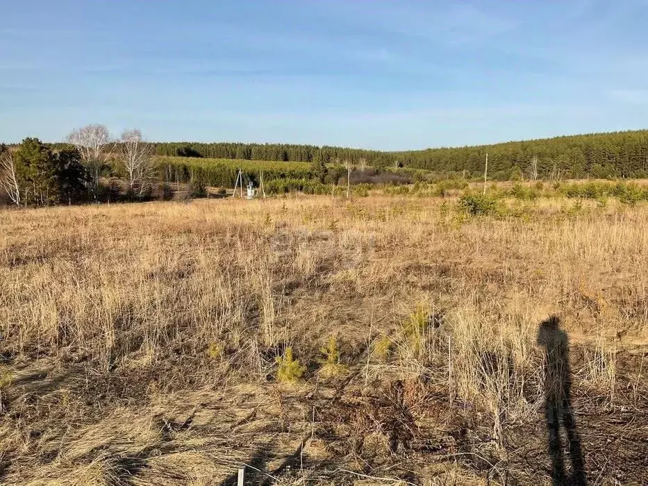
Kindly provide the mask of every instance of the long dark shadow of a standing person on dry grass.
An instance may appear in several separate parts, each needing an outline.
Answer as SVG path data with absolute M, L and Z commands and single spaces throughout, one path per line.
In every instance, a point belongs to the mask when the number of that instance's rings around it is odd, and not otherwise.
M 538 344 L 545 348 L 545 420 L 549 432 L 549 455 L 551 455 L 554 486 L 584 486 L 585 460 L 581 449 L 581 437 L 572 414 L 570 369 L 570 346 L 567 333 L 560 329 L 560 319 L 549 317 L 540 324 Z M 567 449 L 572 463 L 571 474 L 565 471 L 560 426 L 567 435 Z

